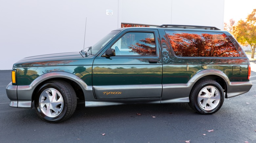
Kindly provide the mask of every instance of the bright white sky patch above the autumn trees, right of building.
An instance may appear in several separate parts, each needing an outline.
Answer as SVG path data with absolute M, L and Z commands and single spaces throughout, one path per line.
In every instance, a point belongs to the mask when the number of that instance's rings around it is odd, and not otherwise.
M 237 23 L 245 20 L 247 15 L 256 9 L 256 0 L 224 0 L 224 23 L 233 18 Z

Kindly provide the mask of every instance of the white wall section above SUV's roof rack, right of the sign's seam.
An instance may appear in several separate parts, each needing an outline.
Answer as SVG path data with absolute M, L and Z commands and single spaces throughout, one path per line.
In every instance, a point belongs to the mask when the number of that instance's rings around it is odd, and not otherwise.
M 129 0 L 122 1 L 122 22 L 180 24 L 223 29 L 224 0 Z

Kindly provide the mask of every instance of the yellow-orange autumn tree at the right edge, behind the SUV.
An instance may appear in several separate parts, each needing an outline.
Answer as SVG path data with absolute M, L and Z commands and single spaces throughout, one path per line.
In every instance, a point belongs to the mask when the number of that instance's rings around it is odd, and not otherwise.
M 246 18 L 246 21 L 240 20 L 233 27 L 233 34 L 237 41 L 242 45 L 251 46 L 251 58 L 254 58 L 256 48 L 256 9 Z

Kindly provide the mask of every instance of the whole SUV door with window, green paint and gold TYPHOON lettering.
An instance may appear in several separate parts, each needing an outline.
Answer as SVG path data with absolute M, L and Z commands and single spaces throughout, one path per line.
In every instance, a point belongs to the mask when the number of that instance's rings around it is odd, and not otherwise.
M 158 30 L 126 29 L 93 63 L 96 99 L 161 97 L 162 57 Z M 107 49 L 115 56 L 104 56 Z

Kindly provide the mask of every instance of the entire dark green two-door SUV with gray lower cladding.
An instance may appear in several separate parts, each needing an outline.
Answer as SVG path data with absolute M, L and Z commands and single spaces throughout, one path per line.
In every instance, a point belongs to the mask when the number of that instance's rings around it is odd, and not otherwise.
M 216 27 L 160 25 L 120 28 L 81 52 L 26 57 L 13 65 L 9 106 L 32 108 L 47 122 L 86 107 L 188 103 L 217 112 L 224 98 L 252 87 L 238 42 Z

